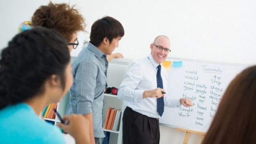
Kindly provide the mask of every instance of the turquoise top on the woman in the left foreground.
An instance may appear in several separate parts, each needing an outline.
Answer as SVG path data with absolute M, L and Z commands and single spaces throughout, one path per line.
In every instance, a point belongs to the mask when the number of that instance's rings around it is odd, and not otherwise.
M 66 144 L 59 128 L 41 120 L 26 103 L 0 110 L 0 144 Z

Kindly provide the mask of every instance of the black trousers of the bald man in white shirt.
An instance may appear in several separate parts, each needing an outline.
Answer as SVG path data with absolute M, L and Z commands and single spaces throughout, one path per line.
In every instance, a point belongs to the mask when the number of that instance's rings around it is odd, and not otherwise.
M 123 115 L 123 144 L 159 144 L 159 120 L 126 107 Z

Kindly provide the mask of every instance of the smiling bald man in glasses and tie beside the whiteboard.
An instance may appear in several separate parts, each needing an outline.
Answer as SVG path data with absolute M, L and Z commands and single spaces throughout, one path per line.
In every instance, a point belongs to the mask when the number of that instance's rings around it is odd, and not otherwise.
M 123 114 L 123 144 L 159 144 L 159 118 L 164 106 L 192 106 L 190 99 L 172 98 L 165 91 L 168 75 L 161 63 L 171 51 L 169 38 L 156 37 L 150 49 L 148 57 L 132 64 L 118 89 L 118 98 L 127 106 Z

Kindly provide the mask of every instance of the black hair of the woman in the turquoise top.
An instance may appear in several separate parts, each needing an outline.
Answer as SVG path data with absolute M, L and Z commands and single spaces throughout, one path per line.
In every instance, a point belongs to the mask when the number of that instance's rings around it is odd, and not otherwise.
M 0 109 L 43 93 L 53 74 L 64 89 L 69 62 L 68 43 L 55 30 L 35 27 L 17 34 L 1 53 Z

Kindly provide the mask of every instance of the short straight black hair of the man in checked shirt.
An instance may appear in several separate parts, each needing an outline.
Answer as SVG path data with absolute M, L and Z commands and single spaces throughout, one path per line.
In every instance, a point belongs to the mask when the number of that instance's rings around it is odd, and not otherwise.
M 103 39 L 107 37 L 109 43 L 117 37 L 124 36 L 124 28 L 122 24 L 110 16 L 105 16 L 96 20 L 91 26 L 90 41 L 98 47 Z

